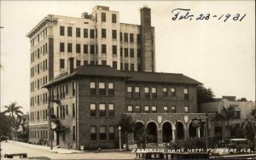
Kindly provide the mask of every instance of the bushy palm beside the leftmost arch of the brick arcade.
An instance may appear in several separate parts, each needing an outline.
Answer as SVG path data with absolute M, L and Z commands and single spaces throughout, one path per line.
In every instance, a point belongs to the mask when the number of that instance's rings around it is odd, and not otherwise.
M 133 120 L 133 118 L 131 116 L 127 116 L 124 115 L 121 119 L 121 121 L 119 122 L 119 125 L 121 126 L 121 131 L 123 133 L 125 133 L 125 144 L 126 144 L 126 148 L 127 150 L 129 150 L 129 146 L 128 146 L 128 133 L 132 133 L 133 129 L 134 129 L 134 124 L 135 121 Z

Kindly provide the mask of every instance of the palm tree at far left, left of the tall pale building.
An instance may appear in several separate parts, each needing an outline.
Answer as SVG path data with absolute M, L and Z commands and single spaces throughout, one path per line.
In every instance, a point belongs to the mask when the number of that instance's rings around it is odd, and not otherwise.
M 3 111 L 3 114 L 8 115 L 10 118 L 10 126 L 11 126 L 11 132 L 13 129 L 17 130 L 20 127 L 20 123 L 22 121 L 22 115 L 23 112 L 20 111 L 22 106 L 16 106 L 17 103 L 13 102 L 9 106 L 4 106 L 6 108 L 5 111 Z M 13 136 L 13 134 L 12 134 Z

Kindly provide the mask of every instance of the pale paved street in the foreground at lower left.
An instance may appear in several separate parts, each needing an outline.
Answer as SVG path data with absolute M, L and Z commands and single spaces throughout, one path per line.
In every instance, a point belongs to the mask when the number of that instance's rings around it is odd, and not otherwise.
M 6 153 L 17 152 L 27 153 L 29 159 L 134 159 L 136 157 L 131 151 L 101 151 L 100 153 L 72 152 L 64 149 L 54 149 L 54 151 L 49 151 L 49 147 L 46 146 L 34 146 L 13 141 L 1 142 L 1 148 L 3 149 L 2 158 Z M 57 151 L 57 153 L 55 151 Z

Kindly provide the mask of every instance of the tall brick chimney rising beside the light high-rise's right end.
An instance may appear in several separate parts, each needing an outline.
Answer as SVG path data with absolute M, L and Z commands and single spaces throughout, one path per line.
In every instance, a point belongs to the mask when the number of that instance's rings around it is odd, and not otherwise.
M 151 32 L 151 9 L 141 9 L 142 71 L 154 71 L 153 37 Z

